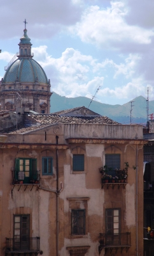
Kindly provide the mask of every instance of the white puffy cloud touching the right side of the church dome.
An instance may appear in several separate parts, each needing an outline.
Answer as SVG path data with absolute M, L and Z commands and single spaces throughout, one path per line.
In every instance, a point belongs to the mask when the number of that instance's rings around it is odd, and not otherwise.
M 46 50 L 46 45 L 32 48 L 35 60 L 45 68 L 48 78 L 51 79 L 54 92 L 76 97 L 94 93 L 97 85 L 102 85 L 104 77 L 93 72 L 97 60 L 92 56 L 67 48 L 60 58 L 55 59 L 49 56 Z

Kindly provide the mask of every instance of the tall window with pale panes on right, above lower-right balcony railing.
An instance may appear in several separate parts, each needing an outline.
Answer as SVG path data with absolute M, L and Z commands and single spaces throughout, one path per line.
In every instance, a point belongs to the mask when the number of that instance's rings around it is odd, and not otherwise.
M 106 233 L 120 233 L 120 209 L 106 209 Z

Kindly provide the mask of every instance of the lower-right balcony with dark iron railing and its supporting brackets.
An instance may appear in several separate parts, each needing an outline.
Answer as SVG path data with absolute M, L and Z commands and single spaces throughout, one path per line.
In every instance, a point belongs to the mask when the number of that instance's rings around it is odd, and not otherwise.
M 99 246 L 99 254 L 101 254 L 102 249 L 105 249 L 105 254 L 110 251 L 110 253 L 115 250 L 129 250 L 130 244 L 130 232 L 127 233 L 116 233 L 116 234 L 102 234 L 100 233 L 100 246 Z

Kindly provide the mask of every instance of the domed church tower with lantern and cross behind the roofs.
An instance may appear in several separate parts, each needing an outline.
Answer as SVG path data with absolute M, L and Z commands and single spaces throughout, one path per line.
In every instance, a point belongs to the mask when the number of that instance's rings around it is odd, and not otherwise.
M 27 35 L 26 20 L 24 35 L 20 38 L 19 52 L 15 54 L 1 79 L 1 111 L 26 109 L 38 113 L 50 113 L 50 79 L 31 52 L 31 38 Z

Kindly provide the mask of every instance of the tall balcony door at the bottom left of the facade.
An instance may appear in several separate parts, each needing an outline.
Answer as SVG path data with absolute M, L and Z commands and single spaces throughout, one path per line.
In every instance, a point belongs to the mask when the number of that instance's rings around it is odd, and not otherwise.
M 14 215 L 13 247 L 23 251 L 29 249 L 29 214 Z

